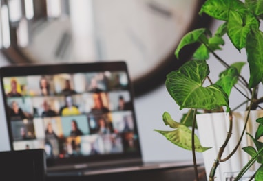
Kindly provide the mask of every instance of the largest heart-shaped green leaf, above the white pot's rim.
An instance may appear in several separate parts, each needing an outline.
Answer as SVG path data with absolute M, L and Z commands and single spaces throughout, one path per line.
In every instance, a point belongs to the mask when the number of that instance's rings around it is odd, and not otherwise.
M 191 60 L 177 71 L 167 75 L 165 85 L 171 97 L 182 108 L 213 110 L 227 106 L 228 98 L 224 90 L 216 85 L 202 87 L 202 82 L 209 75 L 205 60 Z

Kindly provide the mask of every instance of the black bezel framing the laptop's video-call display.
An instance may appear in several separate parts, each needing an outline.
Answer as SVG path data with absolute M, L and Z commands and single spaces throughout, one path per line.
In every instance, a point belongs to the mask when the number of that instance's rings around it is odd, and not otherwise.
M 10 117 L 8 117 L 8 104 L 7 97 L 4 90 L 3 78 L 5 77 L 16 77 L 16 76 L 28 76 L 28 75 L 55 75 L 59 73 L 88 73 L 96 71 L 125 71 L 128 77 L 128 90 L 131 96 L 131 110 L 134 117 L 134 132 L 138 135 L 138 125 L 136 121 L 136 114 L 134 109 L 134 90 L 129 77 L 127 64 L 124 61 L 116 62 L 93 62 L 93 63 L 59 63 L 59 64 L 20 64 L 20 65 L 9 65 L 0 68 L 1 76 L 1 90 L 4 108 L 6 112 L 6 121 L 8 125 L 8 137 L 10 142 L 10 148 L 14 150 L 12 140 L 12 130 L 10 125 Z M 94 163 L 97 162 L 116 162 L 116 160 L 139 160 L 142 162 L 142 152 L 140 148 L 140 138 L 138 135 L 138 147 L 136 152 L 122 153 L 122 154 L 105 154 L 100 156 L 81 156 L 81 157 L 69 157 L 59 159 L 47 159 L 48 167 L 59 166 L 59 165 L 76 165 L 82 163 Z

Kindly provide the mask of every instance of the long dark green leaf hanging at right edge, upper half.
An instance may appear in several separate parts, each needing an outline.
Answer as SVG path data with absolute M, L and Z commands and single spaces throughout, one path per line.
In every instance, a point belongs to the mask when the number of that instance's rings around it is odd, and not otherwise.
M 252 29 L 246 40 L 246 53 L 248 56 L 250 79 L 249 87 L 255 87 L 263 82 L 263 32 Z

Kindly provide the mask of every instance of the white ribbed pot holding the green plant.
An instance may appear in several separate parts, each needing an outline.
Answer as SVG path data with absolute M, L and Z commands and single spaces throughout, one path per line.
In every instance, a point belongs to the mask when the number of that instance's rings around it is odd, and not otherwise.
M 242 129 L 244 128 L 244 122 L 247 112 L 233 112 L 233 130 L 232 136 L 229 141 L 227 148 L 224 151 L 222 158 L 225 158 L 230 152 L 232 152 L 238 138 L 242 134 Z M 258 117 L 263 117 L 263 110 L 253 110 L 249 114 L 249 123 L 246 128 L 246 132 L 251 133 L 255 136 L 255 132 L 258 127 L 258 123 L 255 120 Z M 204 167 L 207 172 L 207 179 L 209 180 L 209 173 L 215 158 L 218 155 L 218 151 L 225 138 L 227 137 L 227 132 L 229 130 L 229 117 L 227 113 L 207 113 L 198 114 L 196 117 L 198 125 L 198 134 L 200 142 L 204 147 L 212 147 L 203 153 Z M 215 180 L 224 180 L 224 176 L 229 172 L 238 172 L 242 169 L 246 162 L 249 161 L 250 156 L 246 154 L 241 148 L 248 145 L 253 145 L 253 141 L 249 136 L 244 134 L 242 138 L 242 143 L 238 148 L 238 151 L 231 157 L 230 160 L 226 162 L 220 162 L 218 169 L 215 172 Z M 255 171 L 255 167 L 252 167 L 250 171 Z

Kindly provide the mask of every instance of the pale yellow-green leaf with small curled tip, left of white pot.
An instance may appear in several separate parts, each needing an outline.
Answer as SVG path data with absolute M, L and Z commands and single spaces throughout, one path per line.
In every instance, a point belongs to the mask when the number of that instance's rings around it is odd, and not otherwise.
M 169 124 L 170 127 L 171 125 L 172 127 L 173 125 L 176 125 L 176 130 L 172 130 L 172 131 L 154 130 L 154 131 L 159 132 L 160 134 L 165 136 L 169 141 L 171 141 L 171 143 L 178 145 L 179 147 L 182 147 L 184 149 L 191 150 L 192 149 L 191 130 L 187 128 L 187 126 L 182 125 L 181 123 L 172 121 L 169 113 L 165 112 L 164 114 L 165 116 L 163 116 L 164 119 L 163 121 L 165 122 L 165 124 L 167 125 L 167 123 L 171 123 Z M 176 124 L 174 124 L 173 122 L 176 122 Z M 209 147 L 202 147 L 200 140 L 198 136 L 196 136 L 196 134 L 194 135 L 194 145 L 196 152 L 204 152 L 207 149 L 209 149 Z

